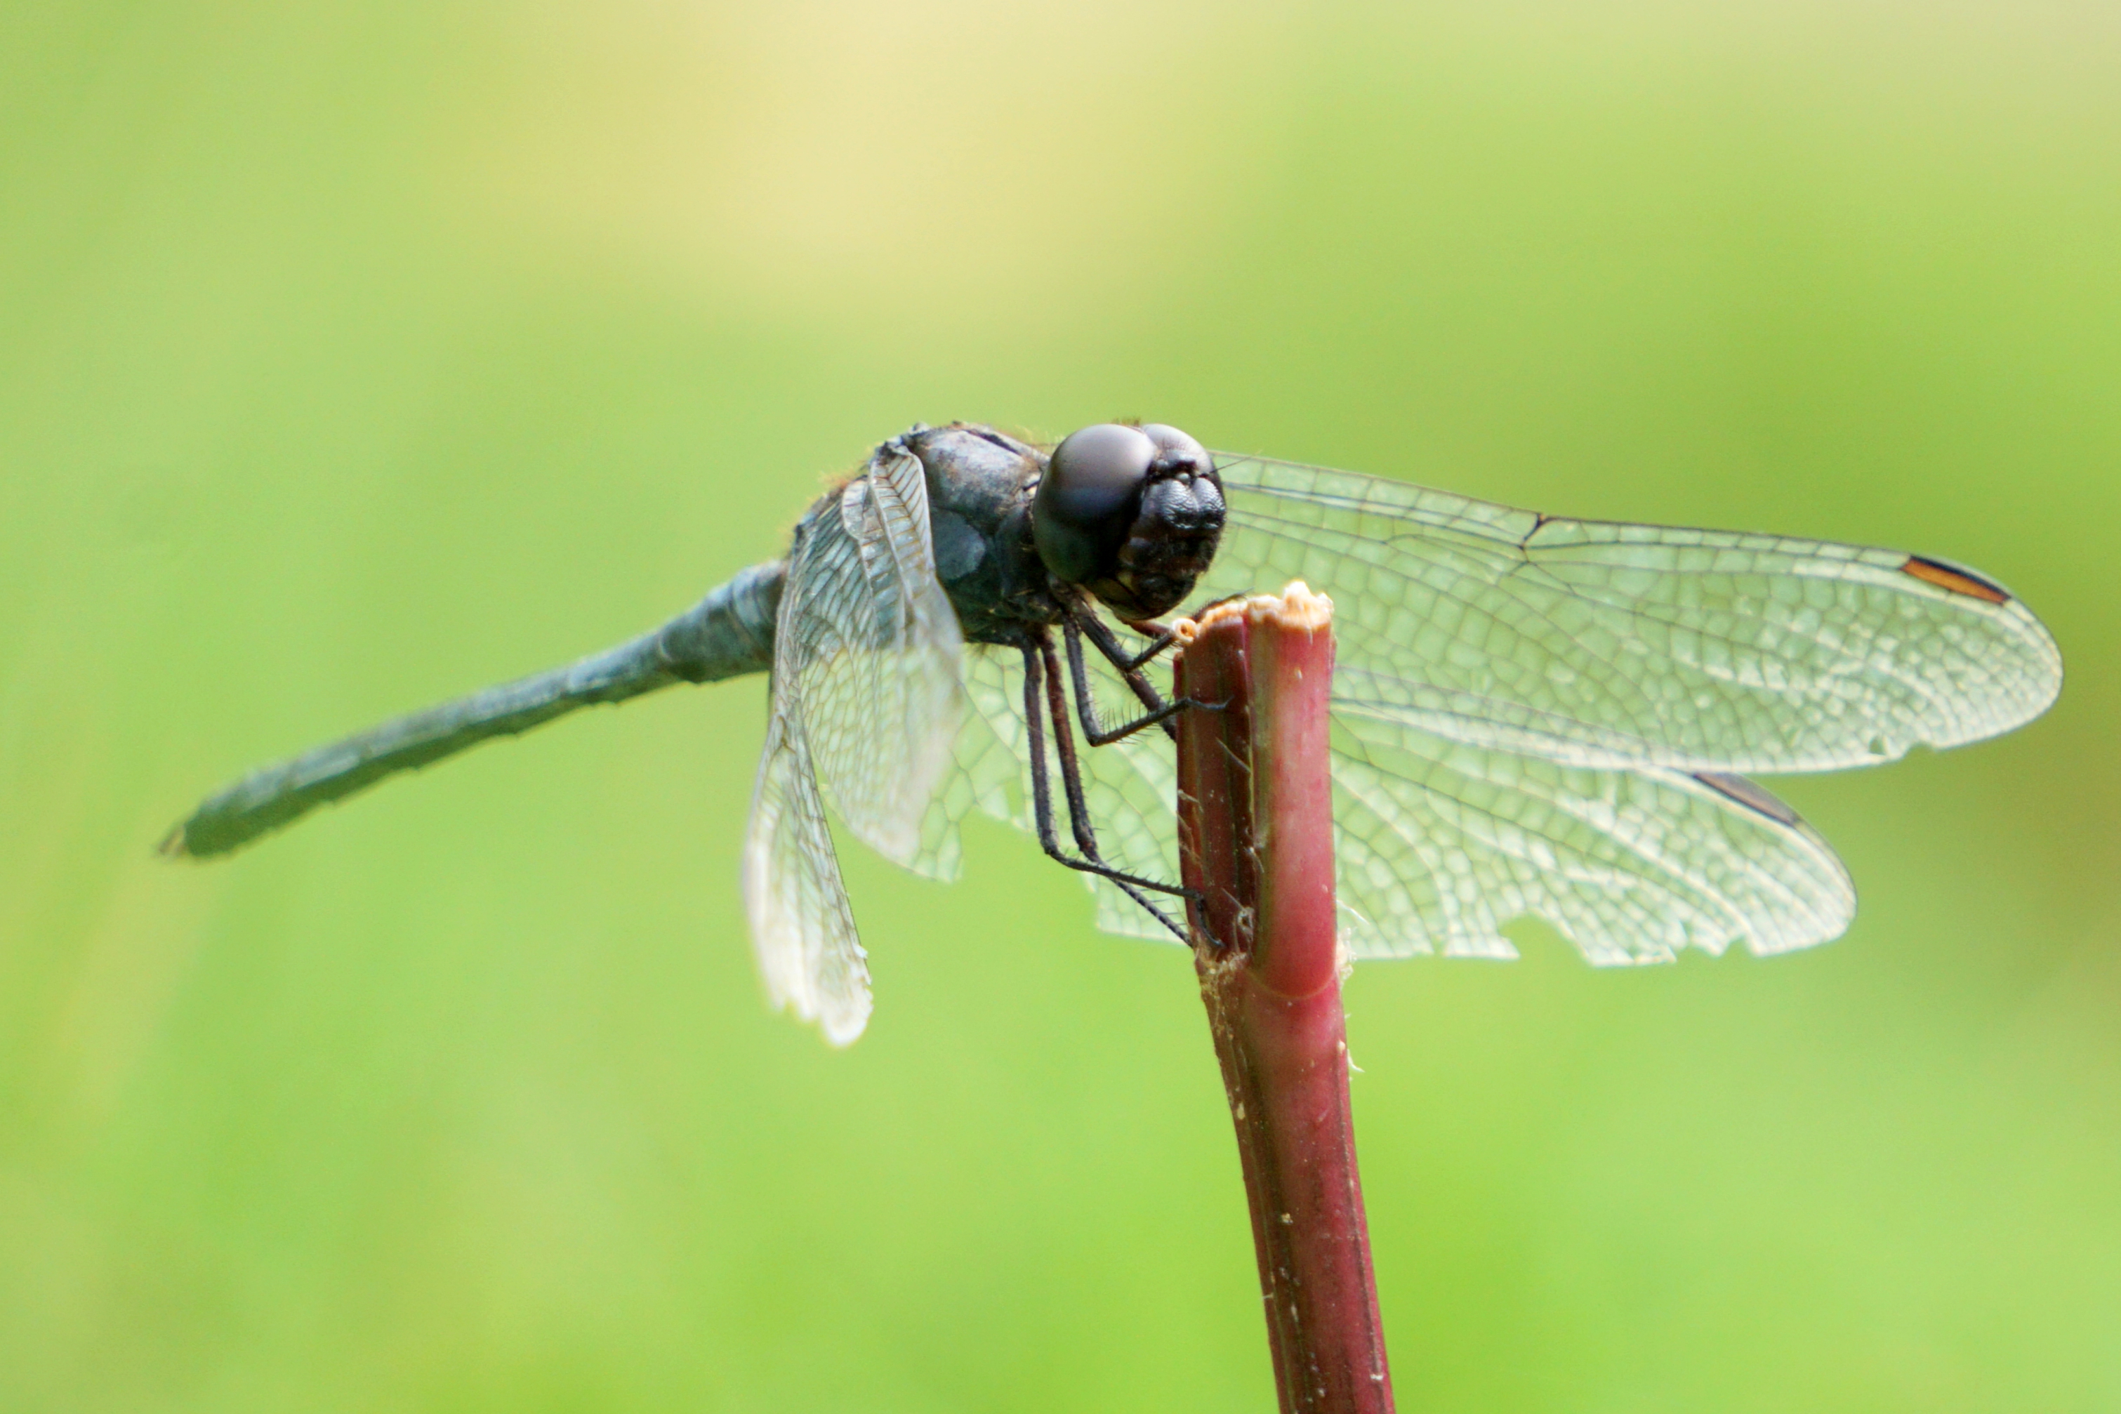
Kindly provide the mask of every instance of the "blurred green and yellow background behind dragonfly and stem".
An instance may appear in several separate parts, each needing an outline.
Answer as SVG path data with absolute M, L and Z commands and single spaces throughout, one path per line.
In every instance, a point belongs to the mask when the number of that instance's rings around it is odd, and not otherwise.
M 2121 21 L 64 4 L 0 42 L 0 1410 L 1264 1410 L 1181 952 L 974 827 L 768 1015 L 764 683 L 214 867 L 263 759 L 914 420 L 1977 564 L 2015 738 L 1780 784 L 1811 954 L 1351 982 L 1408 1410 L 2121 1408 Z

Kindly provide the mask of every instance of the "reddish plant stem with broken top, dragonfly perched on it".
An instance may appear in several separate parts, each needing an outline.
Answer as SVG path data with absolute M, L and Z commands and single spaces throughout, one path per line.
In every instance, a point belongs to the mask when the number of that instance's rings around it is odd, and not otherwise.
M 1177 691 L 1194 967 L 1237 1124 L 1283 1414 L 1391 1410 L 1355 1174 L 1332 888 L 1332 602 L 1302 585 L 1203 615 Z

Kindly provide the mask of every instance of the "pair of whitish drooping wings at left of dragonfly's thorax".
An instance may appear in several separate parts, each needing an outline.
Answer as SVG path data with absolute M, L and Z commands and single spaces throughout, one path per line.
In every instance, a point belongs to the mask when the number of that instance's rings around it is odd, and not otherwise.
M 961 719 L 961 649 L 935 581 L 925 473 L 887 443 L 795 530 L 744 842 L 744 901 L 768 994 L 836 1045 L 867 1024 L 870 973 L 823 795 L 863 844 L 901 865 L 925 863 L 923 823 Z

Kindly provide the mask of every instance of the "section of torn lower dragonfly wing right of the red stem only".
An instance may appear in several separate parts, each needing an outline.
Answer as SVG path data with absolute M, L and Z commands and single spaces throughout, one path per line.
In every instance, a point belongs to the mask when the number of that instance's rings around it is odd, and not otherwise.
M 1739 776 L 1563 765 L 1336 710 L 1340 941 L 1357 958 L 1510 958 L 1536 916 L 1597 965 L 1839 937 L 1841 861 Z

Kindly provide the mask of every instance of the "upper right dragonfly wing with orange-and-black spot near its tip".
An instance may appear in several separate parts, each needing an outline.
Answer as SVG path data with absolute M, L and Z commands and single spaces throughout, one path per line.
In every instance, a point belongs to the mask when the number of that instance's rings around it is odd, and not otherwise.
M 1816 772 L 2038 717 L 2062 657 L 1968 570 L 1767 534 L 1553 519 L 1217 454 L 1207 598 L 1304 579 L 1334 697 L 1468 746 L 1591 767 Z

